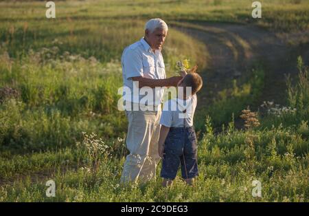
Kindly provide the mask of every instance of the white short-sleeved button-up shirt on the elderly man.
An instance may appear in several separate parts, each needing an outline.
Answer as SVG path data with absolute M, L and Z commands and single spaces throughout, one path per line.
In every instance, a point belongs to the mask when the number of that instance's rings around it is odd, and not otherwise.
M 163 79 L 165 65 L 160 50 L 152 52 L 150 45 L 144 40 L 133 43 L 124 49 L 122 54 L 122 77 L 124 80 L 123 98 L 126 101 L 136 102 L 143 105 L 161 105 L 163 89 L 157 90 L 143 87 L 140 92 L 137 82 L 133 83 L 132 77 L 143 76 L 144 78 Z M 130 89 L 130 94 L 126 91 Z M 148 94 L 153 91 L 153 94 Z

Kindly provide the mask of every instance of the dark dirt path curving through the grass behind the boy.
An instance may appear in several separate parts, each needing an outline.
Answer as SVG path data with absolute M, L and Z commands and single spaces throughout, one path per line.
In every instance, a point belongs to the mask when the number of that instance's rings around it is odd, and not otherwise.
M 209 53 L 209 58 L 205 59 L 207 69 L 203 72 L 206 85 L 201 93 L 206 103 L 210 102 L 218 91 L 230 87 L 233 78 L 241 83 L 241 80 L 250 75 L 254 64 L 262 63 L 265 68 L 264 89 L 261 98 L 252 108 L 257 109 L 263 100 L 284 104 L 284 74 L 297 75 L 296 62 L 299 55 L 303 56 L 308 64 L 309 44 L 293 46 L 288 45 L 288 40 L 298 43 L 300 36 L 309 38 L 309 32 L 279 37 L 254 25 L 181 23 L 181 26 L 173 27 L 204 43 Z

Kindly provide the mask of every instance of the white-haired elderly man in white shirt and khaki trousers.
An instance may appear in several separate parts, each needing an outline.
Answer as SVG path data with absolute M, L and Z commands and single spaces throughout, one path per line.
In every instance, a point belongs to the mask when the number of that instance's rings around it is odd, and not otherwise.
M 158 140 L 159 119 L 163 90 L 155 87 L 176 86 L 181 76 L 166 78 L 161 54 L 162 45 L 168 34 L 168 25 L 162 19 L 150 19 L 145 25 L 145 35 L 140 41 L 129 45 L 122 54 L 122 76 L 124 87 L 130 94 L 124 101 L 132 109 L 126 109 L 128 134 L 126 147 L 130 151 L 124 162 L 121 182 L 146 182 L 155 177 L 159 162 Z M 148 100 L 136 94 L 134 88 L 152 90 Z

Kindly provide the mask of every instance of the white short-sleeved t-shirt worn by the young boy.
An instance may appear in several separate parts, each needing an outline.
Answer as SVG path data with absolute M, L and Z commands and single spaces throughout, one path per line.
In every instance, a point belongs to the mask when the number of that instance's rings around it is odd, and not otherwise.
M 160 124 L 165 127 L 190 127 L 193 126 L 193 117 L 197 105 L 194 94 L 187 100 L 173 98 L 163 105 Z M 185 113 L 183 111 L 185 110 Z

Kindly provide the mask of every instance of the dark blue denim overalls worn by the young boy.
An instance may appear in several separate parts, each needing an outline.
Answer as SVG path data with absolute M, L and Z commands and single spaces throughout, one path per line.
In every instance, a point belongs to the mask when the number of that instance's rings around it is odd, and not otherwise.
M 196 144 L 194 127 L 186 127 L 185 118 L 183 118 L 183 127 L 170 127 L 165 139 L 161 177 L 174 180 L 179 164 L 181 164 L 183 179 L 196 177 L 198 175 Z

